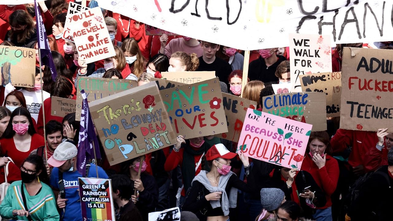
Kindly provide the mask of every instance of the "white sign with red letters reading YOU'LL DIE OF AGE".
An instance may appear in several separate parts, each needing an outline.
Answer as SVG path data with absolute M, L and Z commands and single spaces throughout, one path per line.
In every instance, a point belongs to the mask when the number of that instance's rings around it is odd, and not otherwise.
M 99 7 L 73 14 L 67 20 L 79 57 L 86 59 L 86 63 L 116 55 Z

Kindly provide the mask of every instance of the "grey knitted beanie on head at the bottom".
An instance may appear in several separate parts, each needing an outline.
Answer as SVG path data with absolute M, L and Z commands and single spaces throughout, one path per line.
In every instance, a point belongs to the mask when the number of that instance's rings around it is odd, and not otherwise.
M 279 208 L 283 202 L 285 194 L 277 188 L 263 188 L 261 190 L 261 204 L 267 211 L 273 211 Z

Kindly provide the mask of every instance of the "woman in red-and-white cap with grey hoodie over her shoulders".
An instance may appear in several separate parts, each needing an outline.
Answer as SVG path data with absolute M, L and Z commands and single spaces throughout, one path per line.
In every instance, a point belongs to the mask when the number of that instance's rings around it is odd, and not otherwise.
M 208 221 L 226 221 L 229 219 L 229 209 L 235 208 L 237 189 L 252 192 L 255 181 L 249 173 L 248 157 L 239 153 L 246 168 L 248 183 L 240 180 L 231 172 L 231 159 L 236 157 L 223 144 L 213 145 L 206 153 L 210 172 L 201 170 L 192 181 L 191 189 L 187 191 L 182 210 L 191 211 L 199 218 L 206 216 Z

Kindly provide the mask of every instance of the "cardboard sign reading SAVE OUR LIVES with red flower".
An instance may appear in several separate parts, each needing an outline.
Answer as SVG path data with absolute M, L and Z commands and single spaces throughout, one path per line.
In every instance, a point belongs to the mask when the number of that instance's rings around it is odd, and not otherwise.
M 189 139 L 228 132 L 218 78 L 160 93 L 176 134 Z

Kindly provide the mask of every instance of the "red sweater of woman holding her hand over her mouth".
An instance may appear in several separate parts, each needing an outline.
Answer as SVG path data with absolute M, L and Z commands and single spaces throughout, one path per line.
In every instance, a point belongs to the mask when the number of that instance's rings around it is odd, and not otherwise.
M 338 175 L 340 174 L 337 160 L 329 155 L 326 155 L 325 166 L 321 169 L 318 169 L 318 166 L 311 160 L 311 157 L 306 154 L 303 164 L 301 164 L 301 170 L 309 172 L 318 186 L 326 193 L 325 206 L 317 209 L 326 209 L 329 206 L 332 206 L 332 200 L 330 196 L 334 190 L 336 190 Z

